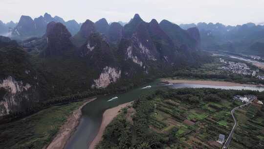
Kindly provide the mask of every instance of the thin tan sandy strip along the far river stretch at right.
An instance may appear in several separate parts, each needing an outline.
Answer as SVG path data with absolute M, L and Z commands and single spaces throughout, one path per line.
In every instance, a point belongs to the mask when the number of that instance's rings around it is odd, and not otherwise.
M 161 78 L 161 82 L 168 83 L 187 83 L 187 84 L 200 84 L 200 85 L 212 85 L 212 86 L 263 86 L 261 84 L 240 84 L 234 82 L 226 81 L 213 81 L 213 80 L 192 80 L 192 79 L 171 79 L 171 78 Z

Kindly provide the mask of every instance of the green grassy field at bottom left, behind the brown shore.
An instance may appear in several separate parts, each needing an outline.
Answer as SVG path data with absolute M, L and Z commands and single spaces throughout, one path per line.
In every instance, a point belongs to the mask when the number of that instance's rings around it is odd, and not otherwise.
M 67 117 L 83 103 L 54 106 L 22 120 L 0 125 L 0 149 L 43 149 Z

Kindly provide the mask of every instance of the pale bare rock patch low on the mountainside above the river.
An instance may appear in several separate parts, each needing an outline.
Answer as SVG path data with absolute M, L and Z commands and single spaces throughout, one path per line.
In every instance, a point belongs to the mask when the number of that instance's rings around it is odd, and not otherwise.
M 116 82 L 121 77 L 121 70 L 118 68 L 105 67 L 98 79 L 93 80 L 93 88 L 106 88 L 110 83 Z

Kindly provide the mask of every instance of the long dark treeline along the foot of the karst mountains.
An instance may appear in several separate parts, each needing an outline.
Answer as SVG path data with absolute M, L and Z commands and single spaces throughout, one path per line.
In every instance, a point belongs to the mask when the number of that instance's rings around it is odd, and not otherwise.
M 161 75 L 161 74 L 158 74 L 158 75 Z M 67 96 L 54 97 L 52 99 L 40 99 L 39 101 L 36 100 L 22 107 L 22 110 L 17 110 L 13 112 L 11 111 L 9 115 L 0 117 L 0 124 L 4 124 L 4 123 L 8 123 L 11 121 L 21 119 L 23 117 L 29 116 L 31 114 L 34 114 L 38 111 L 41 111 L 45 108 L 48 108 L 54 105 L 68 104 L 70 102 L 77 102 L 77 101 L 81 101 L 87 98 L 92 98 L 95 96 L 127 92 L 144 83 L 152 82 L 154 81 L 154 79 L 156 79 L 155 76 L 149 77 L 149 78 L 144 77 L 141 79 L 137 79 L 136 81 L 132 81 L 132 79 L 122 79 L 116 83 L 110 84 L 110 86 L 106 89 L 91 89 L 91 90 L 87 90 L 87 91 L 84 91 L 78 94 L 72 94 L 72 95 L 70 94 Z M 3 88 L 0 88 L 0 95 L 2 94 L 4 95 L 5 93 L 4 91 L 2 91 L 2 89 Z

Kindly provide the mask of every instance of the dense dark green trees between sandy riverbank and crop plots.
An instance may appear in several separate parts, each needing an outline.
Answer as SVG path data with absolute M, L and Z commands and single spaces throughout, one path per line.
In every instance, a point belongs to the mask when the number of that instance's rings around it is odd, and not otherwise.
M 153 97 L 154 94 L 145 95 L 134 101 L 133 125 L 126 121 L 125 111 L 115 118 L 96 149 L 163 149 L 167 142 L 165 136 L 148 131 L 149 124 L 153 123 L 150 118 L 154 112 Z

